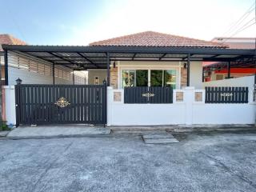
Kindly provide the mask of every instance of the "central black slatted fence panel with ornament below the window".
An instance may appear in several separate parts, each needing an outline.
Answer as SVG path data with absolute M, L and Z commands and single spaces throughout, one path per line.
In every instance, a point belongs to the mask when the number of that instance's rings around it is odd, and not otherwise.
M 173 89 L 170 86 L 126 86 L 125 103 L 173 103 Z

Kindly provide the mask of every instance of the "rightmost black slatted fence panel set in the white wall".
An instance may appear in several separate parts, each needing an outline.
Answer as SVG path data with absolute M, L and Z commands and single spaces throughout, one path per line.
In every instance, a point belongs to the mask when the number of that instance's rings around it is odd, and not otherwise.
M 206 86 L 206 103 L 248 103 L 248 87 Z

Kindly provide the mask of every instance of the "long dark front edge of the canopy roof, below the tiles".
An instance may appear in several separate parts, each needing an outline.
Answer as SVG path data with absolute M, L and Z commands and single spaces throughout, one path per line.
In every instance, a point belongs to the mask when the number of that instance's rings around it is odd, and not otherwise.
M 169 47 L 169 46 L 22 46 L 2 45 L 3 50 L 26 52 L 88 52 L 88 53 L 169 53 L 169 54 L 247 54 L 254 55 L 255 50 L 225 49 L 206 47 Z

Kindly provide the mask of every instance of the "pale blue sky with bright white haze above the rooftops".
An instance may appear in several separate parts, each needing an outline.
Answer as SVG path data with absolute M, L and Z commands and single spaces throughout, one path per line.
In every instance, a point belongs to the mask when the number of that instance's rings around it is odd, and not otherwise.
M 37 45 L 86 45 L 145 30 L 210 40 L 222 36 L 253 3 L 254 0 L 0 0 L 0 34 L 12 34 Z M 247 20 L 251 18 L 254 13 Z M 236 36 L 255 37 L 255 26 Z

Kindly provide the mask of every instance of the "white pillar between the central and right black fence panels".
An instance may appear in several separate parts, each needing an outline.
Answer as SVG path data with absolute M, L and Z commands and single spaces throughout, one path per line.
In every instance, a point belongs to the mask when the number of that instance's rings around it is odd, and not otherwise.
M 194 102 L 194 86 L 186 86 L 184 100 L 186 103 L 186 125 L 193 124 L 193 102 Z

